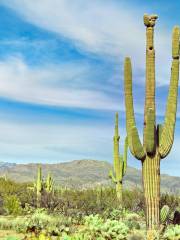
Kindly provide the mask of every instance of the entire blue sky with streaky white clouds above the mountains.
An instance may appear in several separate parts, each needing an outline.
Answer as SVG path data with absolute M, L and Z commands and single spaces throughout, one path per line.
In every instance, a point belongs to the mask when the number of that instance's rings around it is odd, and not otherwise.
M 125 137 L 123 59 L 131 56 L 142 133 L 145 12 L 157 13 L 157 118 L 163 122 L 171 31 L 180 3 L 117 0 L 0 1 L 0 160 L 112 161 L 114 114 Z M 180 176 L 180 111 L 162 172 Z M 129 165 L 140 162 L 129 154 Z

